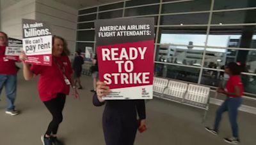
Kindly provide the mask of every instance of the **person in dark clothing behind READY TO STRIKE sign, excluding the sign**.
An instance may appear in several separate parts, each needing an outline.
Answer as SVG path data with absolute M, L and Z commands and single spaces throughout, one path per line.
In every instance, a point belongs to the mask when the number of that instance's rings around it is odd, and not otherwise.
M 97 82 L 93 105 L 106 104 L 102 126 L 106 145 L 133 145 L 137 129 L 144 132 L 146 113 L 144 100 L 103 100 L 111 91 L 102 81 Z M 139 120 L 137 120 L 137 113 Z

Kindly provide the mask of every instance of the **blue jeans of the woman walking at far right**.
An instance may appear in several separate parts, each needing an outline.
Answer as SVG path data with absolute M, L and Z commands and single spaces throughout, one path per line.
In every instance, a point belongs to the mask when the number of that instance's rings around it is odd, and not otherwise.
M 222 114 L 225 111 L 228 111 L 228 118 L 232 128 L 232 135 L 233 137 L 238 138 L 237 109 L 239 106 L 241 106 L 242 100 L 243 99 L 241 97 L 237 97 L 237 98 L 227 97 L 227 99 L 223 102 L 223 104 L 221 104 L 219 109 L 216 111 L 216 118 L 214 123 L 214 130 L 216 132 L 218 132 Z

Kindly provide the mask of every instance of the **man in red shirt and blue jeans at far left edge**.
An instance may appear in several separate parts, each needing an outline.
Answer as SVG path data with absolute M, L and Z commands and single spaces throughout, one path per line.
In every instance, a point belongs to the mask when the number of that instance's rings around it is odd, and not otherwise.
M 6 59 L 4 55 L 8 36 L 6 33 L 0 31 L 0 93 L 5 87 L 7 108 L 5 113 L 10 115 L 17 115 L 19 111 L 15 110 L 14 102 L 17 92 L 17 67 L 15 60 Z

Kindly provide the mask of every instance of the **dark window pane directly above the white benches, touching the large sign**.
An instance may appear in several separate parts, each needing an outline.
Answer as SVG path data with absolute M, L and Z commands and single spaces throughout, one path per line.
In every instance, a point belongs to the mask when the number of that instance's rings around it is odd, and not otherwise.
M 154 75 L 197 83 L 200 69 L 155 63 Z

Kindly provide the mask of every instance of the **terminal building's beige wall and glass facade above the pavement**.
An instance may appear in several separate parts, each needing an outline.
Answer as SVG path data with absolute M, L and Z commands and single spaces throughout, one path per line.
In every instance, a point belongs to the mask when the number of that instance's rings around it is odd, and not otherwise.
M 241 62 L 244 105 L 255 108 L 255 15 L 254 0 L 2 0 L 1 31 L 22 39 L 21 18 L 42 20 L 67 39 L 71 52 L 89 47 L 95 53 L 94 20 L 154 17 L 155 76 L 209 86 L 211 97 L 223 99 L 215 92 L 223 67 Z

